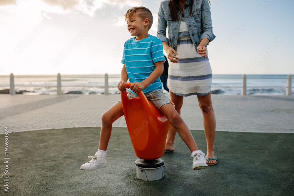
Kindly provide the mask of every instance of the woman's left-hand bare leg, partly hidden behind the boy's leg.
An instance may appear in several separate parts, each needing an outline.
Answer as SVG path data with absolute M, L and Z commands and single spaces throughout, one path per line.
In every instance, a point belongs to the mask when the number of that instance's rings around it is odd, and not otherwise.
M 169 93 L 170 93 L 171 101 L 175 104 L 176 111 L 178 112 L 178 114 L 181 115 L 181 108 L 183 105 L 183 96 L 178 96 L 176 94 L 173 94 L 171 90 L 169 91 Z M 168 129 L 166 145 L 164 150 L 174 150 L 173 144 L 176 138 L 176 134 L 177 134 L 177 130 L 173 126 L 170 126 Z

